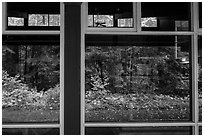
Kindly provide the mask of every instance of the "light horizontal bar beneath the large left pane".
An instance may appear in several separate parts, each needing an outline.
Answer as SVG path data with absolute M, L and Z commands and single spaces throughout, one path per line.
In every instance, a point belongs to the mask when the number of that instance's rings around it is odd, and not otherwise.
M 60 124 L 3 124 L 2 128 L 59 128 Z

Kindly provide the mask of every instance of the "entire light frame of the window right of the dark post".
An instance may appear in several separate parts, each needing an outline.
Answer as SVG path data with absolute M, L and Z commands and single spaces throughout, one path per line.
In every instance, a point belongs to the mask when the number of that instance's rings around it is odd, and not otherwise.
M 85 135 L 86 127 L 149 127 L 149 126 L 191 126 L 193 135 L 199 134 L 199 126 L 202 126 L 202 122 L 198 121 L 199 109 L 198 109 L 198 70 L 197 70 L 197 56 L 198 56 L 198 35 L 202 36 L 202 29 L 198 27 L 198 2 L 191 2 L 191 30 L 190 31 L 141 31 L 141 2 L 133 4 L 136 6 L 134 8 L 136 12 L 134 26 L 136 30 L 110 30 L 105 31 L 103 28 L 90 29 L 87 26 L 88 18 L 88 3 L 82 3 L 82 23 L 81 23 L 81 135 Z M 84 14 L 83 12 L 86 12 Z M 83 22 L 84 21 L 84 22 Z M 192 121 L 190 122 L 85 122 L 85 35 L 86 34 L 114 34 L 114 35 L 188 35 L 191 36 L 191 58 L 192 58 Z

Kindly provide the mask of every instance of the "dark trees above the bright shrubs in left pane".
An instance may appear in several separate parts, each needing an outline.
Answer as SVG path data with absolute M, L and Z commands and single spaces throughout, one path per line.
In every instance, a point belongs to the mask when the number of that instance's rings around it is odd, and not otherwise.
M 9 75 L 20 75 L 22 82 L 38 91 L 46 91 L 59 83 L 59 46 L 3 46 L 2 68 Z

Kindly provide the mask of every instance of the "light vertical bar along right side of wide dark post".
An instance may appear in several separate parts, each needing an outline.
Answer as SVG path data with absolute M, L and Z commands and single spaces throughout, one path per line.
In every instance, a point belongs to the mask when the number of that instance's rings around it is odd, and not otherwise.
M 88 27 L 87 6 L 87 3 L 81 5 L 81 135 L 85 135 L 85 31 L 86 27 Z

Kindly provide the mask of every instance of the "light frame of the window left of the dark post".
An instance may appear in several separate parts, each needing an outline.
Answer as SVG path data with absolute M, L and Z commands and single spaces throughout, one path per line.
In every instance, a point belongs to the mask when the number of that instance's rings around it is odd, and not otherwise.
M 60 30 L 6 30 L 7 2 L 2 2 L 2 35 L 60 35 L 60 116 L 59 123 L 2 123 L 2 129 L 17 128 L 59 128 L 59 134 L 64 134 L 64 4 L 60 2 Z

